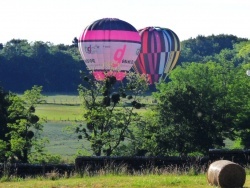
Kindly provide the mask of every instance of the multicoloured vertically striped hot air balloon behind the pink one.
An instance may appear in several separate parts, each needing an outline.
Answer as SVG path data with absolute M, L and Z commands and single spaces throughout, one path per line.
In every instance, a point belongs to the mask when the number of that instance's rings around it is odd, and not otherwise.
M 139 30 L 139 34 L 142 47 L 133 69 L 147 74 L 149 83 L 154 84 L 176 65 L 181 51 L 180 40 L 167 28 L 146 27 Z

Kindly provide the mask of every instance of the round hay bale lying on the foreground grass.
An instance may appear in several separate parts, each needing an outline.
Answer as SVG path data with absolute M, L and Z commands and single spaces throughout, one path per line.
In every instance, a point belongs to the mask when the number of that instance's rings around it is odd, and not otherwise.
M 246 172 L 242 166 L 228 160 L 219 160 L 210 164 L 207 171 L 208 183 L 224 188 L 243 187 Z

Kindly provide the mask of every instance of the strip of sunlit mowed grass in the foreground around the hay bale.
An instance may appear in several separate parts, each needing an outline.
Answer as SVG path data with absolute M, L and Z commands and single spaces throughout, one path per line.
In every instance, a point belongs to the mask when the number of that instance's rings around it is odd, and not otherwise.
M 0 188 L 84 188 L 84 187 L 140 187 L 140 188 L 211 188 L 206 175 L 103 175 L 84 178 L 25 179 L 18 182 L 0 183 Z M 250 187 L 250 176 L 246 178 L 244 187 Z

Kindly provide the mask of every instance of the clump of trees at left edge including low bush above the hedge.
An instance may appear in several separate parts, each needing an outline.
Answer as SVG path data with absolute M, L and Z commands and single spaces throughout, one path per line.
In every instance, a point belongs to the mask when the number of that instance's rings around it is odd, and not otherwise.
M 58 162 L 45 149 L 46 138 L 36 105 L 43 101 L 42 86 L 33 86 L 22 97 L 0 89 L 0 162 Z

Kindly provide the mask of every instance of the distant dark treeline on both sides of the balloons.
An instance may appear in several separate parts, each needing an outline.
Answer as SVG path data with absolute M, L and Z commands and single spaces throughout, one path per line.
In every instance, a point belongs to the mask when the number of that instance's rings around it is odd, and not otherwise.
M 240 48 L 236 44 L 247 41 L 224 34 L 182 41 L 177 65 L 214 60 L 222 51 L 234 56 L 234 51 Z M 6 90 L 21 93 L 34 85 L 41 85 L 44 92 L 74 93 L 82 82 L 80 70 L 86 71 L 86 67 L 76 39 L 72 45 L 53 45 L 42 41 L 29 43 L 21 39 L 0 43 L 0 85 Z

